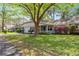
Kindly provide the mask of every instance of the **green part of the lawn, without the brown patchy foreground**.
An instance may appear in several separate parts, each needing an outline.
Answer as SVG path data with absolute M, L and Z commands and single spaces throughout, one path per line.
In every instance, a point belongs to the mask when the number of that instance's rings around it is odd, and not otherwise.
M 37 37 L 20 35 L 8 36 L 8 40 L 21 40 L 32 47 L 54 51 L 58 55 L 79 55 L 79 35 L 39 35 Z

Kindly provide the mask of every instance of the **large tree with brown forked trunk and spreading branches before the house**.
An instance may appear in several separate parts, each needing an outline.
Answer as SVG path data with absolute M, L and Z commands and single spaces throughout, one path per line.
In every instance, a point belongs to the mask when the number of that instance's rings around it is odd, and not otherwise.
M 52 6 L 55 6 L 55 3 L 28 3 L 28 4 L 18 4 L 20 7 L 24 8 L 26 14 L 28 13 L 33 20 L 35 25 L 35 35 L 39 33 L 39 23 L 46 14 L 47 10 Z

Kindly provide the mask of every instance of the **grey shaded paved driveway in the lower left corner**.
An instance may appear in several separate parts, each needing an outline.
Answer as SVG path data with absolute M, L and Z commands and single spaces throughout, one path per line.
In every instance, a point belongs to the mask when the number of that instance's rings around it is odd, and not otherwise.
M 19 56 L 20 53 L 18 50 L 13 44 L 9 43 L 4 36 L 8 35 L 0 34 L 0 56 Z

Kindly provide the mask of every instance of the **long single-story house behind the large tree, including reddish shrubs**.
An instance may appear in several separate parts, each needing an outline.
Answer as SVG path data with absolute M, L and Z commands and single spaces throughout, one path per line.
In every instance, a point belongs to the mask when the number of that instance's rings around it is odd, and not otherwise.
M 79 31 L 79 16 L 74 16 L 70 20 L 42 20 L 39 24 L 40 33 L 68 33 L 69 28 L 67 25 L 77 25 L 75 31 Z M 20 26 L 20 25 L 19 25 Z M 17 27 L 16 27 L 17 28 Z M 33 21 L 26 21 L 19 27 L 23 33 L 34 33 L 35 26 Z M 15 29 L 16 30 L 16 29 Z

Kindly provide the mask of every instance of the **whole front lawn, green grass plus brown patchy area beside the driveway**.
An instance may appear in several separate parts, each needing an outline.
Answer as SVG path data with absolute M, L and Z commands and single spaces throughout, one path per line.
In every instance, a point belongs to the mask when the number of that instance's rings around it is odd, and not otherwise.
M 39 35 L 37 37 L 20 35 L 7 36 L 6 39 L 18 40 L 15 45 L 22 44 L 22 46 L 17 48 L 20 50 L 22 50 L 21 47 L 29 49 L 31 51 L 29 52 L 30 55 L 34 55 L 38 51 L 37 55 L 79 56 L 79 35 Z M 29 53 L 24 52 L 24 55 L 29 55 Z

